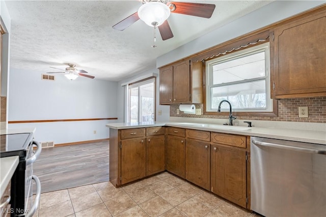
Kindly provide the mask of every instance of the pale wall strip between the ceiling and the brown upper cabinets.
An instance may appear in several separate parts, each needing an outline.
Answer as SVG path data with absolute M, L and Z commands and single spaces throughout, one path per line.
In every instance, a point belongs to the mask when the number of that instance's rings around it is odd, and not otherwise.
M 221 28 L 188 42 L 156 59 L 157 68 L 250 33 L 271 23 L 307 11 L 326 1 L 275 1 Z

